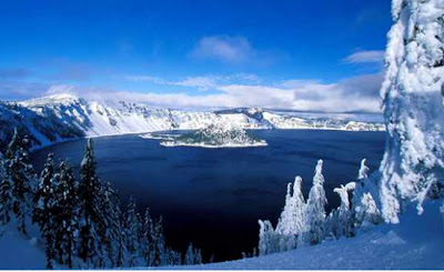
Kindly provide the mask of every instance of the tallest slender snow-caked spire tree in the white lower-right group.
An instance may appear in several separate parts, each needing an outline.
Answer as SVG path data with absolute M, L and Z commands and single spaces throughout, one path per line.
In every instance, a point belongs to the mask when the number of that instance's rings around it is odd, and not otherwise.
M 313 187 L 309 193 L 305 210 L 304 243 L 321 243 L 325 235 L 325 204 L 327 203 L 322 175 L 322 160 L 317 161 Z

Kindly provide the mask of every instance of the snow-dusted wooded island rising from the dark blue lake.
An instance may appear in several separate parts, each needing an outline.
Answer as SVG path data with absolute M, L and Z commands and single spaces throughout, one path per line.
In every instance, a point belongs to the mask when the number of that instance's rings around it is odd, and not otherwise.
M 163 139 L 160 144 L 163 147 L 195 148 L 251 148 L 268 145 L 264 140 L 251 135 L 244 129 L 223 123 L 210 124 L 191 133 Z

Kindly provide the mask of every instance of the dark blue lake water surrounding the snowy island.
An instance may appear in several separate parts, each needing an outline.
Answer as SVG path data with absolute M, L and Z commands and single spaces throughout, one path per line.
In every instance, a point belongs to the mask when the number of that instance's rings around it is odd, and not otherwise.
M 333 188 L 355 179 L 360 161 L 375 170 L 384 149 L 383 132 L 315 130 L 252 131 L 264 148 L 164 148 L 138 135 L 94 139 L 98 173 L 120 191 L 134 195 L 142 210 L 162 214 L 167 243 L 184 250 L 189 242 L 204 259 L 241 258 L 258 245 L 258 219 L 276 223 L 286 183 L 296 174 L 305 197 L 317 159 L 324 160 L 329 209 L 337 206 Z M 41 169 L 48 152 L 69 158 L 78 169 L 85 140 L 60 143 L 33 154 Z

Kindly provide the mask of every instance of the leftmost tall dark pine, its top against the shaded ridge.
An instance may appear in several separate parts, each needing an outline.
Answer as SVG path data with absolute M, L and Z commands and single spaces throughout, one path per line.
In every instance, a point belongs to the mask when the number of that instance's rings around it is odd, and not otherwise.
M 4 175 L 9 180 L 12 193 L 12 212 L 18 221 L 18 230 L 23 234 L 27 234 L 26 220 L 31 212 L 32 183 L 36 179 L 29 162 L 29 147 L 28 137 L 22 138 L 16 129 L 11 142 L 8 144 L 4 162 Z M 6 183 L 3 183 L 4 191 L 8 191 Z

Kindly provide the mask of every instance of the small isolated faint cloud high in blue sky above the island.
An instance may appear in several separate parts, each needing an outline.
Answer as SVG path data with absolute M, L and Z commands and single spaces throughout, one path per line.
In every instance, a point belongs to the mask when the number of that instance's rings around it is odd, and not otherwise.
M 203 37 L 191 52 L 196 59 L 212 59 L 222 62 L 240 63 L 255 54 L 249 40 L 244 37 L 210 36 Z

